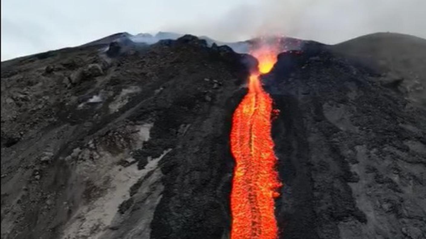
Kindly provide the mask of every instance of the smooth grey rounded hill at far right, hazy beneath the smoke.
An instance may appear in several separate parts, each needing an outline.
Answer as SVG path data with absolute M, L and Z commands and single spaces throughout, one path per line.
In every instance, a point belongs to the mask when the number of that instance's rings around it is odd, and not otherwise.
M 404 34 L 376 33 L 331 46 L 331 50 L 380 73 L 394 87 L 426 105 L 426 40 Z

